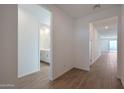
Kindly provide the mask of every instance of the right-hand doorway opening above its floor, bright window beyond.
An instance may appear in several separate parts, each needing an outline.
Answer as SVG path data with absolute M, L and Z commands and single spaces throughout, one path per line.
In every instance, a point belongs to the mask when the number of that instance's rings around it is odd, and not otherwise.
M 93 65 L 101 56 L 117 55 L 117 36 L 118 36 L 118 17 L 111 17 L 101 20 L 96 20 L 90 24 L 90 66 Z M 111 60 L 111 59 L 110 59 Z M 114 65 L 118 65 L 117 59 L 114 60 Z M 117 69 L 117 66 L 115 66 Z

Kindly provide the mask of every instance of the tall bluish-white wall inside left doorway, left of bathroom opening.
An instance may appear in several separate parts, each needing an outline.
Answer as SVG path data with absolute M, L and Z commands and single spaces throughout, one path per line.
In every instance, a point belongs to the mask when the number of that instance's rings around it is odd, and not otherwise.
M 30 7 L 30 6 L 29 6 Z M 39 70 L 39 22 L 24 5 L 18 7 L 18 77 Z

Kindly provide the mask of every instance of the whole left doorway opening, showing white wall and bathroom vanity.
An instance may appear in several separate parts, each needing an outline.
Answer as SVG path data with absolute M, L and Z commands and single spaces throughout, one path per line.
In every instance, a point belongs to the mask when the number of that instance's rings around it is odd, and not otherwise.
M 41 71 L 53 80 L 52 13 L 39 5 L 18 5 L 18 78 Z M 43 61 L 44 63 L 42 64 Z M 42 69 L 42 68 L 47 69 Z M 44 73 L 39 74 L 39 76 Z

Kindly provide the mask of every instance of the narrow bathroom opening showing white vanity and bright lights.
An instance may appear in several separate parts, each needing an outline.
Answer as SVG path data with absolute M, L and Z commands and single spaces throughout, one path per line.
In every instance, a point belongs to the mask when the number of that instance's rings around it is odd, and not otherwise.
M 50 21 L 50 20 L 49 20 Z M 39 29 L 39 53 L 40 53 L 40 71 L 42 73 L 48 74 L 49 80 L 51 80 L 51 69 L 52 66 L 52 55 L 51 55 L 51 29 L 50 24 L 40 24 Z

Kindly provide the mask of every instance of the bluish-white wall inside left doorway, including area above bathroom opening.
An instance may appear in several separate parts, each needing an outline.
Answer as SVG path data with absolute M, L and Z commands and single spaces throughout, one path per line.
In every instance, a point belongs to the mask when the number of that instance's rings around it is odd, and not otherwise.
M 47 14 L 37 5 L 18 6 L 18 77 L 40 70 L 40 24 L 50 25 Z

